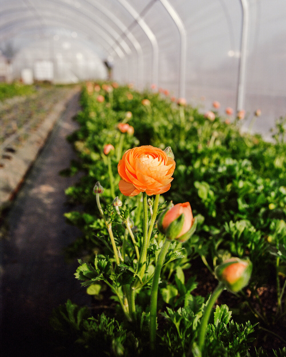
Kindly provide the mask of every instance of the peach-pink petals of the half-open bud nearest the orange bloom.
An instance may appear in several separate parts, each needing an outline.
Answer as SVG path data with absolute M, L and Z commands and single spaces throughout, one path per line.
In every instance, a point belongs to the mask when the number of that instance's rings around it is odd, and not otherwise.
M 181 215 L 184 216 L 183 226 L 178 232 L 176 232 L 176 237 L 173 237 L 173 239 L 181 237 L 191 229 L 193 224 L 191 205 L 189 202 L 178 203 L 177 205 L 174 205 L 174 207 L 170 208 L 164 215 L 162 221 L 162 228 L 164 232 L 166 232 L 171 223 L 177 220 L 177 218 L 179 218 Z

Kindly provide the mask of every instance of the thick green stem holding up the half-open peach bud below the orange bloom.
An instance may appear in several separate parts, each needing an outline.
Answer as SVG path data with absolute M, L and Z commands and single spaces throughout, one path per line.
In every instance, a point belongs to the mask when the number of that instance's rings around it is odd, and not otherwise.
M 168 252 L 171 241 L 168 239 L 165 240 L 161 252 L 158 256 L 158 261 L 155 267 L 153 283 L 151 289 L 151 301 L 150 301 L 150 343 L 151 349 L 155 350 L 155 342 L 156 342 L 156 317 L 157 317 L 157 297 L 158 297 L 158 286 L 161 269 Z

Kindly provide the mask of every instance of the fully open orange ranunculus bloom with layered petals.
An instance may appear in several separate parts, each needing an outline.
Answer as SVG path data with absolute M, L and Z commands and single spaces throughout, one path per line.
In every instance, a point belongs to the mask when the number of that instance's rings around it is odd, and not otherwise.
M 171 187 L 175 161 L 151 145 L 127 150 L 118 162 L 119 190 L 125 196 L 146 192 L 148 196 L 167 192 Z

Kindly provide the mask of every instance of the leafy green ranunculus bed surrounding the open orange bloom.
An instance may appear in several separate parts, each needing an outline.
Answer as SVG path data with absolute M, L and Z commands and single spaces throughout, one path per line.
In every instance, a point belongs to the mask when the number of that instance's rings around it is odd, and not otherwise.
M 198 225 L 189 241 L 174 245 L 174 253 L 179 252 L 180 258 L 170 259 L 161 276 L 160 355 L 196 356 L 196 349 L 191 351 L 190 346 L 194 346 L 209 292 L 216 286 L 213 271 L 225 258 L 236 256 L 252 261 L 251 281 L 236 296 L 226 291 L 218 301 L 221 306 L 216 307 L 208 325 L 203 356 L 286 356 L 285 119 L 277 122 L 273 142 L 269 143 L 259 135 L 241 134 L 236 117 L 227 124 L 215 112 L 212 121 L 197 109 L 178 105 L 157 92 L 114 87 L 112 91 L 104 90 L 104 86 L 100 91 L 83 90 L 82 111 L 76 118 L 79 130 L 69 137 L 78 160 L 63 172 L 84 173 L 77 185 L 66 190 L 69 202 L 75 205 L 66 219 L 83 233 L 67 255 L 81 259 L 77 277 L 85 279 L 88 292 L 99 299 L 94 305 L 107 299 L 114 306 L 112 293 L 96 278 L 103 268 L 94 266 L 95 256 L 112 255 L 110 243 L 104 239 L 107 230 L 97 210 L 94 184 L 100 181 L 105 189 L 101 199 L 106 210 L 112 210 L 114 199 L 110 177 L 114 177 L 115 196 L 125 209 L 139 207 L 139 196 L 132 201 L 118 190 L 120 154 L 134 146 L 152 145 L 163 150 L 171 146 L 176 170 L 164 200 L 190 202 Z M 99 94 L 103 102 L 98 101 Z M 142 104 L 143 99 L 150 104 Z M 123 137 L 117 127 L 123 121 L 134 127 L 134 135 Z M 106 144 L 115 147 L 109 154 L 112 176 L 103 153 Z M 84 209 L 77 210 L 77 205 Z M 130 215 L 134 215 L 140 237 L 139 208 Z M 123 228 L 116 217 L 113 225 L 120 245 Z M 153 244 L 154 251 L 160 248 L 155 240 Z M 99 350 L 110 356 L 147 355 L 148 291 L 142 289 L 136 297 L 135 327 L 115 307 L 114 319 L 107 311 L 97 316 L 68 302 L 53 317 L 56 330 L 62 336 L 69 335 L 65 348 L 75 343 L 78 351 L 88 356 Z

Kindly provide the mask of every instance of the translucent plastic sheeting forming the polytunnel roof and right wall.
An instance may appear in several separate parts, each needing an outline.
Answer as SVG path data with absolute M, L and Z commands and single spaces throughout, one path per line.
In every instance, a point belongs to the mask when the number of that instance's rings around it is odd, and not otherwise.
M 202 111 L 213 100 L 222 114 L 245 109 L 245 129 L 261 109 L 255 129 L 266 133 L 286 112 L 285 16 L 284 0 L 0 0 L 0 44 L 76 33 L 114 79 L 155 82 Z

